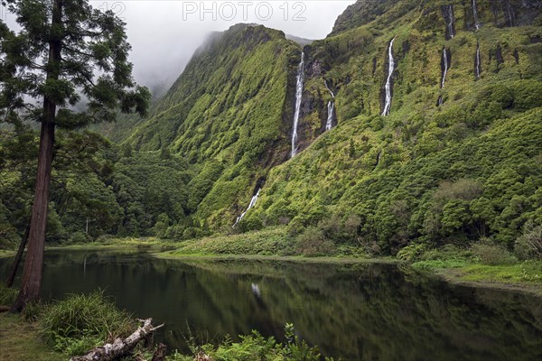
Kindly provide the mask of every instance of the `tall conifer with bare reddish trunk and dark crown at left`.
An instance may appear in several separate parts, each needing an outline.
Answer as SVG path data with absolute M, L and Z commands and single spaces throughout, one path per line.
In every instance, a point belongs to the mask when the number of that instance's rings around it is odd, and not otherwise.
M 125 23 L 112 12 L 93 9 L 88 0 L 3 3 L 21 30 L 14 32 L 0 22 L 0 116 L 41 124 L 28 250 L 12 308 L 16 311 L 41 291 L 55 127 L 78 129 L 114 121 L 118 109 L 144 116 L 150 93 L 132 78 Z

